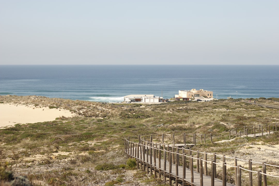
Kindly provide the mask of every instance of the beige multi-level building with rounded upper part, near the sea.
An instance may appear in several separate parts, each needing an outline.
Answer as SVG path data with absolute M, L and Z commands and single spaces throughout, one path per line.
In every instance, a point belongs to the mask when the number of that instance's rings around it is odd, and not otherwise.
M 182 98 L 194 98 L 194 99 L 200 99 L 202 98 L 213 98 L 213 91 L 208 91 L 208 90 L 196 90 L 196 89 L 192 89 L 192 90 L 179 90 L 178 91 L 178 95 L 175 95 L 175 98 L 177 97 L 182 97 Z

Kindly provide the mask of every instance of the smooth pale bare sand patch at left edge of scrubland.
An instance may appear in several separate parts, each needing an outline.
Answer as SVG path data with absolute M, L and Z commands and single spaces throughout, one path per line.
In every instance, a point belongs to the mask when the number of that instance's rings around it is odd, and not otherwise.
M 15 103 L 0 104 L 0 128 L 15 124 L 53 121 L 57 117 L 73 117 L 74 113 L 61 108 L 35 107 Z

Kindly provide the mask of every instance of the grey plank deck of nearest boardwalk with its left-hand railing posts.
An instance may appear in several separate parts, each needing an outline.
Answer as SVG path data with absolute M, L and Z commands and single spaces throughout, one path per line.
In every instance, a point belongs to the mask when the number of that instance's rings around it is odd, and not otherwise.
M 166 149 L 155 148 L 150 144 L 148 146 L 134 143 L 134 142 L 125 142 L 126 153 L 130 158 L 136 158 L 136 161 L 144 171 L 147 173 L 154 173 L 155 178 L 157 174 L 159 177 L 163 176 L 164 181 L 166 178 L 169 178 L 169 185 L 172 185 L 172 180 L 175 184 L 181 185 L 195 185 L 195 186 L 224 186 L 224 185 L 233 185 L 231 183 L 223 183 L 222 180 L 215 178 L 216 176 L 216 165 L 211 167 L 211 172 L 215 172 L 213 177 L 200 174 L 204 172 L 207 174 L 207 170 L 203 170 L 204 160 L 201 158 L 189 157 L 189 167 L 186 168 L 186 155 L 167 151 Z M 163 157 L 163 159 L 162 159 Z M 196 159 L 197 171 L 194 171 L 193 159 Z M 182 162 L 180 162 L 182 160 Z M 209 161 L 208 161 L 209 162 Z M 206 162 L 206 163 L 208 163 Z M 214 165 L 211 162 L 211 165 Z M 182 166 L 181 166 L 182 165 Z M 213 168 L 213 169 L 212 169 Z M 215 168 L 215 170 L 214 170 Z M 224 178 L 226 179 L 226 178 Z

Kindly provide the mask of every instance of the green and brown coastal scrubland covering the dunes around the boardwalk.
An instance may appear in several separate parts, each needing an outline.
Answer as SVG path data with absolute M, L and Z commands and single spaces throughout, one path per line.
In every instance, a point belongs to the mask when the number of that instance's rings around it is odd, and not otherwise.
M 256 101 L 279 105 L 274 99 Z M 208 139 L 192 149 L 279 165 L 278 132 L 217 142 L 226 139 L 222 134 L 227 131 L 244 126 L 276 125 L 279 129 L 278 110 L 241 99 L 145 105 L 0 96 L 1 103 L 65 108 L 76 116 L 0 129 L 0 185 L 168 185 L 137 170 L 124 152 L 125 137 L 148 138 L 151 134 L 211 134 L 213 143 Z M 192 136 L 186 140 L 191 141 Z M 277 168 L 270 171 L 279 175 Z M 268 183 L 278 185 L 279 181 L 269 178 Z

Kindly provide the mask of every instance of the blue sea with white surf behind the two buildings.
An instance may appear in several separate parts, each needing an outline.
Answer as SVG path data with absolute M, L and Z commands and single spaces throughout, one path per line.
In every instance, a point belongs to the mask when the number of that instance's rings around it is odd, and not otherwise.
M 122 102 L 193 88 L 218 99 L 279 98 L 279 65 L 0 65 L 0 95 Z

